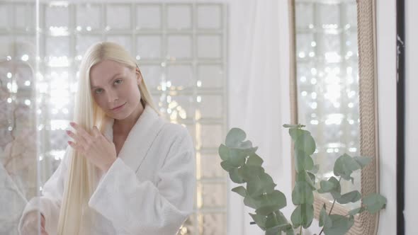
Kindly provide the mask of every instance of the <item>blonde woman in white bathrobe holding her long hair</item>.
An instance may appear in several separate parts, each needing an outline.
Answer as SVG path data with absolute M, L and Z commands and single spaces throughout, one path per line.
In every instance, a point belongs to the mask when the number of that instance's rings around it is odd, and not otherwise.
M 193 210 L 190 135 L 159 116 L 120 45 L 92 45 L 79 74 L 69 147 L 26 205 L 20 233 L 176 234 Z

